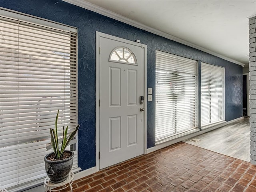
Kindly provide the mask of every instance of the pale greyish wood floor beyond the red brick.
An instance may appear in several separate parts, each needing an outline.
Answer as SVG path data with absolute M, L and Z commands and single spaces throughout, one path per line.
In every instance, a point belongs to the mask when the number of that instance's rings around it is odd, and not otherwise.
M 195 138 L 184 142 L 240 160 L 250 161 L 249 118 L 197 136 L 196 139 L 200 139 L 198 142 L 192 142 L 193 139 Z

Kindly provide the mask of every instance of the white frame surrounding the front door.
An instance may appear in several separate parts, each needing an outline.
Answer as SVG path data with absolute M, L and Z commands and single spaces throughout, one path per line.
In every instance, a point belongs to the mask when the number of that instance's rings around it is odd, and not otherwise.
M 147 46 L 96 31 L 96 172 L 100 170 L 100 37 L 119 40 L 144 48 L 144 154 L 147 153 Z

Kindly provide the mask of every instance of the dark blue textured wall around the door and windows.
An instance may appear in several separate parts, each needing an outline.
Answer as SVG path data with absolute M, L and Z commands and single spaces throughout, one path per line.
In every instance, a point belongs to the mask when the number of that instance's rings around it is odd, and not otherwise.
M 242 116 L 242 66 L 58 0 L 0 0 L 0 6 L 78 28 L 78 164 L 82 170 L 95 166 L 96 31 L 147 45 L 147 87 L 153 88 L 153 102 L 147 106 L 147 148 L 155 141 L 156 49 L 225 67 L 226 121 Z

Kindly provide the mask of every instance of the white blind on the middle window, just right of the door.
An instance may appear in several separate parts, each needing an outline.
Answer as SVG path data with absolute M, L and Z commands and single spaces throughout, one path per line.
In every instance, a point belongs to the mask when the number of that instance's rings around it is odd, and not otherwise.
M 156 141 L 195 128 L 197 61 L 156 51 Z

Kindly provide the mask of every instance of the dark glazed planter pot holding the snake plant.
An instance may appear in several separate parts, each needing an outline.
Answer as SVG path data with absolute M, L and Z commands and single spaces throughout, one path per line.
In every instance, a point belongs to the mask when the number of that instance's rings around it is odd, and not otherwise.
M 69 158 L 57 161 L 50 161 L 47 159 L 47 157 L 52 153 L 44 157 L 45 171 L 52 183 L 60 183 L 68 178 L 68 174 L 73 165 L 74 152 L 65 152 L 71 153 L 72 155 Z

